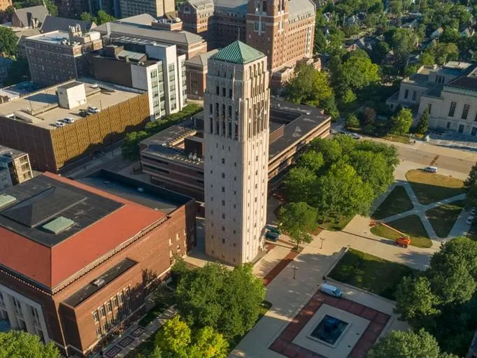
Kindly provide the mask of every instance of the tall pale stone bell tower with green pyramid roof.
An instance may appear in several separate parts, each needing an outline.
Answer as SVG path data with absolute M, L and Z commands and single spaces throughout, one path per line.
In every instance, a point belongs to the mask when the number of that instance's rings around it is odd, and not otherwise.
M 266 56 L 235 41 L 208 62 L 204 94 L 206 254 L 250 262 L 264 246 L 269 157 Z

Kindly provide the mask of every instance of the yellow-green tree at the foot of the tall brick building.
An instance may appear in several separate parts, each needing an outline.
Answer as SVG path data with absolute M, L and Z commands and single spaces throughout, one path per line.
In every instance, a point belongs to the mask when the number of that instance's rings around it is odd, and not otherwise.
M 297 66 L 295 76 L 285 84 L 285 96 L 293 103 L 319 106 L 320 101 L 333 95 L 327 73 L 311 65 Z

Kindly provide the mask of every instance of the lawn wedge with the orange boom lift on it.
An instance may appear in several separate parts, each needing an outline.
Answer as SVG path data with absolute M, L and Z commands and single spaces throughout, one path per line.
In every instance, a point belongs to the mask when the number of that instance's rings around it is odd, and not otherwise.
M 394 227 L 401 231 L 403 234 L 411 236 L 411 245 L 416 248 L 430 248 L 432 246 L 432 241 L 427 235 L 427 231 L 422 225 L 418 215 L 409 215 L 406 217 L 401 217 L 401 219 L 394 220 L 392 222 L 387 222 L 390 227 Z M 400 235 L 396 231 L 383 226 L 376 225 L 376 227 L 371 227 L 371 233 L 381 236 L 383 238 L 390 238 L 391 240 L 397 240 Z

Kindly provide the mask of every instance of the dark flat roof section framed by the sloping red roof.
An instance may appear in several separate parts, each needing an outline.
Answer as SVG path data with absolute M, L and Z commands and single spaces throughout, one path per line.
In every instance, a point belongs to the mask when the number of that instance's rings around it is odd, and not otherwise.
M 123 205 L 48 176 L 36 176 L 0 193 L 0 227 L 51 248 Z M 73 224 L 57 234 L 45 229 L 58 217 Z

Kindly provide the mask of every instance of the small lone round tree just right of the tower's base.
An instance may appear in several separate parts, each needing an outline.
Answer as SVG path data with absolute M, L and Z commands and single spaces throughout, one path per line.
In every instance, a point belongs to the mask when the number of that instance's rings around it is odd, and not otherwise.
M 288 203 L 280 208 L 278 222 L 280 228 L 297 243 L 295 250 L 298 250 L 300 243 L 311 243 L 313 240 L 308 232 L 316 228 L 316 209 L 304 202 Z

